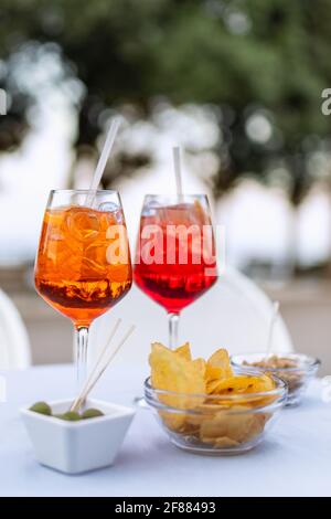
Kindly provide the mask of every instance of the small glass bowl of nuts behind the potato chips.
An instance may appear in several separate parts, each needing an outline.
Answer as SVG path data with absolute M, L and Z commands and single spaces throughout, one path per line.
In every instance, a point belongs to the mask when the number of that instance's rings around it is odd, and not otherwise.
M 316 377 L 320 360 L 303 353 L 244 353 L 231 358 L 235 369 L 244 368 L 274 374 L 288 386 L 287 406 L 299 405 L 309 382 Z

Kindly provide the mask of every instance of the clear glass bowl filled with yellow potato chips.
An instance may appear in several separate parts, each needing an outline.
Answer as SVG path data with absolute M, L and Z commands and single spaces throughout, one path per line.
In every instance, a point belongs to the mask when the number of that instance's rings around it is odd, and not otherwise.
M 205 455 L 241 454 L 256 447 L 286 403 L 287 386 L 274 374 L 234 369 L 226 350 L 206 361 L 190 345 L 152 345 L 145 398 L 178 447 Z

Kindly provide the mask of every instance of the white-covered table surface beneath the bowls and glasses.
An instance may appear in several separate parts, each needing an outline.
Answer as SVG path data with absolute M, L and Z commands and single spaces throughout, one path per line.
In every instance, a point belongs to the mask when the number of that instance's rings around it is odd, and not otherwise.
M 143 369 L 117 366 L 96 398 L 131 403 Z M 235 457 L 204 457 L 172 446 L 149 410 L 137 412 L 115 466 L 66 476 L 40 466 L 18 415 L 24 403 L 73 394 L 70 366 L 38 367 L 7 378 L 0 403 L 0 496 L 330 496 L 331 403 L 314 381 L 305 404 L 285 410 L 268 439 Z

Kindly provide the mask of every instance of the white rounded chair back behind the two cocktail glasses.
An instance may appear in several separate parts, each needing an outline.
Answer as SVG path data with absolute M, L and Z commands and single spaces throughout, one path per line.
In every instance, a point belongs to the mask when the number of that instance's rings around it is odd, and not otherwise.
M 179 342 L 190 340 L 196 357 L 207 357 L 221 347 L 231 353 L 264 351 L 271 311 L 271 301 L 256 284 L 237 271 L 226 268 L 212 289 L 182 311 Z M 105 343 L 117 317 L 137 325 L 134 338 L 124 347 L 118 361 L 146 363 L 152 341 L 168 343 L 166 311 L 132 287 L 121 303 L 95 321 L 90 337 L 92 354 Z M 292 351 L 281 317 L 275 325 L 273 350 Z

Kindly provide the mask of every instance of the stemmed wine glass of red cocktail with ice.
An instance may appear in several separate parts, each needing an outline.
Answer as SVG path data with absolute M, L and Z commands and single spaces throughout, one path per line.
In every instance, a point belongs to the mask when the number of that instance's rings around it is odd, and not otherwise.
M 140 219 L 134 278 L 166 308 L 170 347 L 178 341 L 180 313 L 217 278 L 215 242 L 206 195 L 147 195 Z

